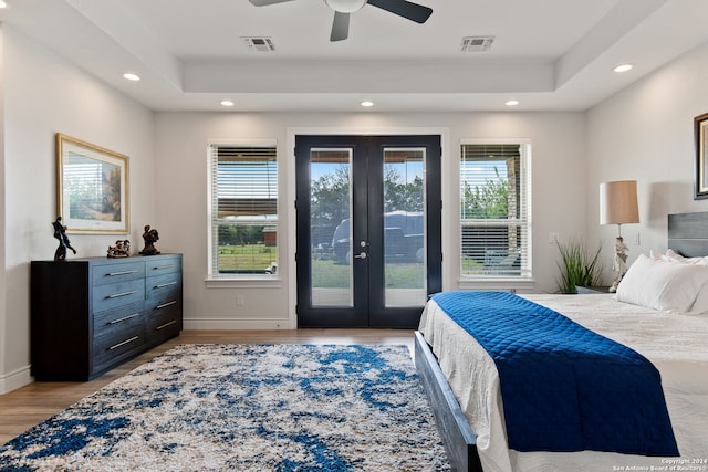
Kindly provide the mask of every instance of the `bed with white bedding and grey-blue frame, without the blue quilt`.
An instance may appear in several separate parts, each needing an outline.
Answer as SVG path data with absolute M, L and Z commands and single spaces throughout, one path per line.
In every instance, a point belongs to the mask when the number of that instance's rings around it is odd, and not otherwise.
M 670 250 L 638 256 L 617 295 L 521 297 L 562 313 L 648 359 L 660 373 L 663 397 L 679 454 L 510 449 L 494 361 L 475 337 L 431 300 L 415 334 L 416 366 L 454 470 L 617 471 L 670 470 L 671 466 L 708 470 L 705 432 L 708 424 L 708 280 L 701 280 L 708 274 L 708 268 L 700 266 L 708 264 L 708 259 L 700 259 L 708 254 L 708 212 L 670 214 L 668 224 Z M 647 279 L 639 272 L 645 270 L 642 264 L 653 271 L 668 268 L 688 275 L 670 275 L 671 286 L 662 280 L 666 274 Z M 693 269 L 688 269 L 689 265 Z M 690 279 L 681 279 L 684 276 Z M 663 295 L 658 296 L 658 290 L 637 295 L 641 290 L 633 291 L 633 284 L 637 283 L 648 287 L 652 283 L 663 284 Z M 690 307 L 684 301 L 687 297 L 693 301 Z

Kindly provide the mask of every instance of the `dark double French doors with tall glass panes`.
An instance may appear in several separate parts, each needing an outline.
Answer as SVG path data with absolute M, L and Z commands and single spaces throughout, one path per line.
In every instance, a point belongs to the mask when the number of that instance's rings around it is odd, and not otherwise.
M 298 324 L 417 327 L 441 290 L 440 137 L 296 136 Z

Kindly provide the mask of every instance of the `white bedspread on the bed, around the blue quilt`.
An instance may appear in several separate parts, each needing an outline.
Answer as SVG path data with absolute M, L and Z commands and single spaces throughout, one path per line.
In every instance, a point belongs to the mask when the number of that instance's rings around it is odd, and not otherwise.
M 522 295 L 611 339 L 632 347 L 662 374 L 681 466 L 708 471 L 708 315 L 656 312 L 614 295 Z M 517 452 L 508 449 L 499 377 L 487 352 L 433 301 L 419 331 L 472 430 L 486 472 L 671 470 L 678 458 L 582 451 Z M 647 469 L 644 469 L 646 466 Z M 667 469 L 663 469 L 663 468 Z M 658 468 L 658 469 L 657 469 Z M 674 469 L 677 470 L 677 469 Z M 680 470 L 680 469 L 679 469 Z

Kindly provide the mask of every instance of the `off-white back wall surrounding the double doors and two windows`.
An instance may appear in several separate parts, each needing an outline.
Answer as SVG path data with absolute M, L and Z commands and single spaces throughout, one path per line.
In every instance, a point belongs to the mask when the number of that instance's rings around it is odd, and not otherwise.
M 554 292 L 561 239 L 585 233 L 585 117 L 582 113 L 469 114 L 156 114 L 157 218 L 160 250 L 185 253 L 185 325 L 196 328 L 294 327 L 294 166 L 298 129 L 342 134 L 444 134 L 444 287 L 459 277 L 459 144 L 464 138 L 530 138 L 533 175 L 533 268 L 537 291 Z M 207 155 L 209 139 L 277 139 L 280 181 L 281 281 L 208 287 Z M 236 304 L 242 295 L 244 306 Z

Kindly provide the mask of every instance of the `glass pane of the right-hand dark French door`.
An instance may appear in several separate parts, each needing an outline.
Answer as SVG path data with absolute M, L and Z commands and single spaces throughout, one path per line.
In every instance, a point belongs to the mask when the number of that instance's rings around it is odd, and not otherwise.
M 423 306 L 427 298 L 425 148 L 384 149 L 385 305 Z

